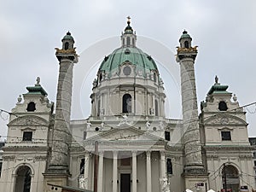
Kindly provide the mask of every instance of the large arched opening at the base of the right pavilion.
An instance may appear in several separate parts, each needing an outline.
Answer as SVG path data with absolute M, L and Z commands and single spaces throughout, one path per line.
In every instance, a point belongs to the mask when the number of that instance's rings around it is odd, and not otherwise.
M 224 180 L 226 182 L 224 183 Z M 239 172 L 235 166 L 232 165 L 224 165 L 222 169 L 222 181 L 223 181 L 223 189 L 231 189 L 231 191 L 237 191 L 239 189 Z M 226 185 L 226 186 L 225 186 Z

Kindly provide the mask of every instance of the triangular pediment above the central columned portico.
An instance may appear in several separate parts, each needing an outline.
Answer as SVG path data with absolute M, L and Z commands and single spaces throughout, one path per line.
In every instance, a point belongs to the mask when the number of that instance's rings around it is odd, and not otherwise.
M 114 128 L 104 131 L 99 135 L 88 138 L 88 140 L 96 141 L 164 141 L 160 137 L 150 134 L 148 131 L 142 131 L 135 127 Z

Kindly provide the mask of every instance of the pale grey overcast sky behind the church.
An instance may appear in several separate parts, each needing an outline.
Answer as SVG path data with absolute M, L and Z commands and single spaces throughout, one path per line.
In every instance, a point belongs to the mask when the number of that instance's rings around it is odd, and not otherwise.
M 55 102 L 59 67 L 55 47 L 61 47 L 61 38 L 70 31 L 81 55 L 74 67 L 74 93 L 79 96 L 73 96 L 73 102 L 83 111 L 77 114 L 73 107 L 72 117 L 88 117 L 91 82 L 100 61 L 119 47 L 128 15 L 138 46 L 159 62 L 167 108 L 171 106 L 166 116 L 181 115 L 174 55 L 184 29 L 199 46 L 195 61 L 198 101 L 205 100 L 218 75 L 219 82 L 236 93 L 240 105 L 256 102 L 255 10 L 254 0 L 0 0 L 0 108 L 11 111 L 17 97 L 26 93 L 26 86 L 35 84 L 38 76 L 49 100 Z M 80 76 L 83 84 L 76 83 Z M 255 105 L 245 110 L 249 136 L 256 137 Z M 6 118 L 2 113 L 2 136 L 7 135 Z

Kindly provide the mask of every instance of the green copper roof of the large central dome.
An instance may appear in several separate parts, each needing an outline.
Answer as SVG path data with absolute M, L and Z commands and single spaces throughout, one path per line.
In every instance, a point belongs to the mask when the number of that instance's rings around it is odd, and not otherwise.
M 117 71 L 119 66 L 125 61 L 131 62 L 136 66 L 137 71 L 146 73 L 151 70 L 157 70 L 156 64 L 150 55 L 143 52 L 143 50 L 137 47 L 121 47 L 115 49 L 112 54 L 105 57 L 102 61 L 99 71 L 104 71 L 105 73 L 112 73 Z

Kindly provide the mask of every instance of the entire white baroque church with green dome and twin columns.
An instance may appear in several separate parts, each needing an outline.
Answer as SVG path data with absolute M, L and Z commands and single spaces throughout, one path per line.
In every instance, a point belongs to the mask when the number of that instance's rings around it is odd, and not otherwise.
M 56 49 L 56 102 L 40 84 L 26 87 L 9 118 L 0 189 L 11 192 L 168 192 L 254 189 L 246 113 L 218 77 L 198 116 L 195 58 L 188 32 L 177 47 L 183 119 L 166 119 L 157 63 L 137 48 L 128 19 L 121 46 L 102 61 L 93 81 L 90 117 L 71 120 L 70 32 Z M 55 113 L 54 113 L 55 111 Z

